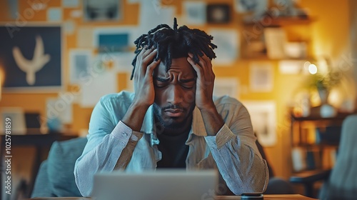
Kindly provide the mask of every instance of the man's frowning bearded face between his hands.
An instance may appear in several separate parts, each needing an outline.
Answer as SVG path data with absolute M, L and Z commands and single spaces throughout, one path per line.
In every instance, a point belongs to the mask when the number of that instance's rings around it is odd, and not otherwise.
M 154 112 L 165 129 L 179 129 L 191 123 L 195 107 L 196 71 L 186 57 L 172 59 L 169 71 L 161 61 L 154 70 Z

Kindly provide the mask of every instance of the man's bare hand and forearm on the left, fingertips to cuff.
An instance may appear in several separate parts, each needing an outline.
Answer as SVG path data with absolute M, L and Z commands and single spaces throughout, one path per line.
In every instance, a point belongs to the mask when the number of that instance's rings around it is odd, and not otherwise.
M 140 131 L 146 111 L 151 104 L 154 104 L 153 71 L 160 64 L 160 60 L 153 61 L 156 54 L 157 51 L 154 48 L 143 49 L 136 57 L 134 71 L 135 96 L 125 116 L 121 119 L 133 131 Z

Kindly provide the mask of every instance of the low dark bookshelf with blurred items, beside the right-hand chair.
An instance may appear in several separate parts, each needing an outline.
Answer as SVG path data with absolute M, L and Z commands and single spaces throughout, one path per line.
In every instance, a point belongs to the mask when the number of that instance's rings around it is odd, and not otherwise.
M 301 117 L 291 113 L 293 174 L 333 167 L 341 125 L 348 115 L 338 113 L 334 117 L 322 118 L 318 114 Z

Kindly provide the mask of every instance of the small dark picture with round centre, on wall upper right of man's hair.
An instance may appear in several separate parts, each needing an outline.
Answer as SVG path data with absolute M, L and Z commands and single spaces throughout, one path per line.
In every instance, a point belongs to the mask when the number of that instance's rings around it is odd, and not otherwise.
M 207 22 L 210 24 L 226 24 L 231 21 L 231 9 L 228 4 L 208 4 Z

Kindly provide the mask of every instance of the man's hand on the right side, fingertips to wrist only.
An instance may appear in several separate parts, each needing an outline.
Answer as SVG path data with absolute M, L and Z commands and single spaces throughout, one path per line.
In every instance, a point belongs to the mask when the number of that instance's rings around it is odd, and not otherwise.
M 211 59 L 205 54 L 198 56 L 199 62 L 195 64 L 193 54 L 188 54 L 187 61 L 197 73 L 196 80 L 196 106 L 198 109 L 213 109 L 213 86 L 215 75 L 212 70 Z

